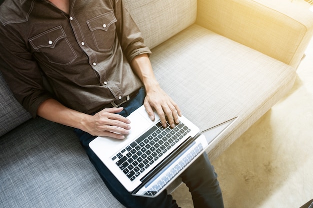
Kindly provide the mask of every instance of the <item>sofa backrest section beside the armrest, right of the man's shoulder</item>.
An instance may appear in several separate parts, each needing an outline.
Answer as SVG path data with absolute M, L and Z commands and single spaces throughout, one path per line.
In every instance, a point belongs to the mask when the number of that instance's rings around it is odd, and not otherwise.
M 195 22 L 196 0 L 124 0 L 151 49 Z

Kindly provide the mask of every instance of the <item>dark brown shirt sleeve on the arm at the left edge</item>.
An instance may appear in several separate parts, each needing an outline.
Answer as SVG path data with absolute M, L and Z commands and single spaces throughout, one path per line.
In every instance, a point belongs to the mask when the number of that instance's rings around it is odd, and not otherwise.
M 3 25 L 0 37 L 2 75 L 17 101 L 36 117 L 39 105 L 52 97 L 43 87 L 40 69 L 25 42 Z

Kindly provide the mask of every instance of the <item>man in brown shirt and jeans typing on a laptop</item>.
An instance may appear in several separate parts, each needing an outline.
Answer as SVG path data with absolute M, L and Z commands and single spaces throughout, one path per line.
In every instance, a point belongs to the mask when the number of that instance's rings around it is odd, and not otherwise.
M 131 196 L 88 147 L 96 136 L 123 139 L 130 129 L 125 117 L 142 104 L 150 119 L 154 109 L 164 126 L 165 116 L 173 127 L 181 115 L 156 81 L 150 50 L 123 2 L 6 0 L 0 21 L 0 55 L 11 67 L 1 71 L 23 107 L 33 117 L 75 128 L 90 161 L 124 206 L 177 207 L 166 191 L 156 198 Z M 205 154 L 181 178 L 194 207 L 223 207 Z

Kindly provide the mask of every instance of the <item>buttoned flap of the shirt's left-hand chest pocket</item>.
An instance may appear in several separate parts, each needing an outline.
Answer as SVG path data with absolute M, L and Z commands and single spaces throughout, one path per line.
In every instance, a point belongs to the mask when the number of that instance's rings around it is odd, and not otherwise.
M 30 44 L 34 49 L 39 49 L 41 47 L 53 48 L 57 41 L 66 37 L 61 26 L 54 27 L 45 32 L 42 32 L 32 38 L 29 38 Z

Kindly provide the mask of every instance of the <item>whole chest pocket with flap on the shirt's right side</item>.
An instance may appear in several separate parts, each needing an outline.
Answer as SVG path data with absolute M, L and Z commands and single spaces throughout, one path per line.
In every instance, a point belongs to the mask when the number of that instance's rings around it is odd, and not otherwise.
M 86 21 L 98 51 L 111 50 L 115 40 L 116 18 L 113 11 L 106 12 Z

